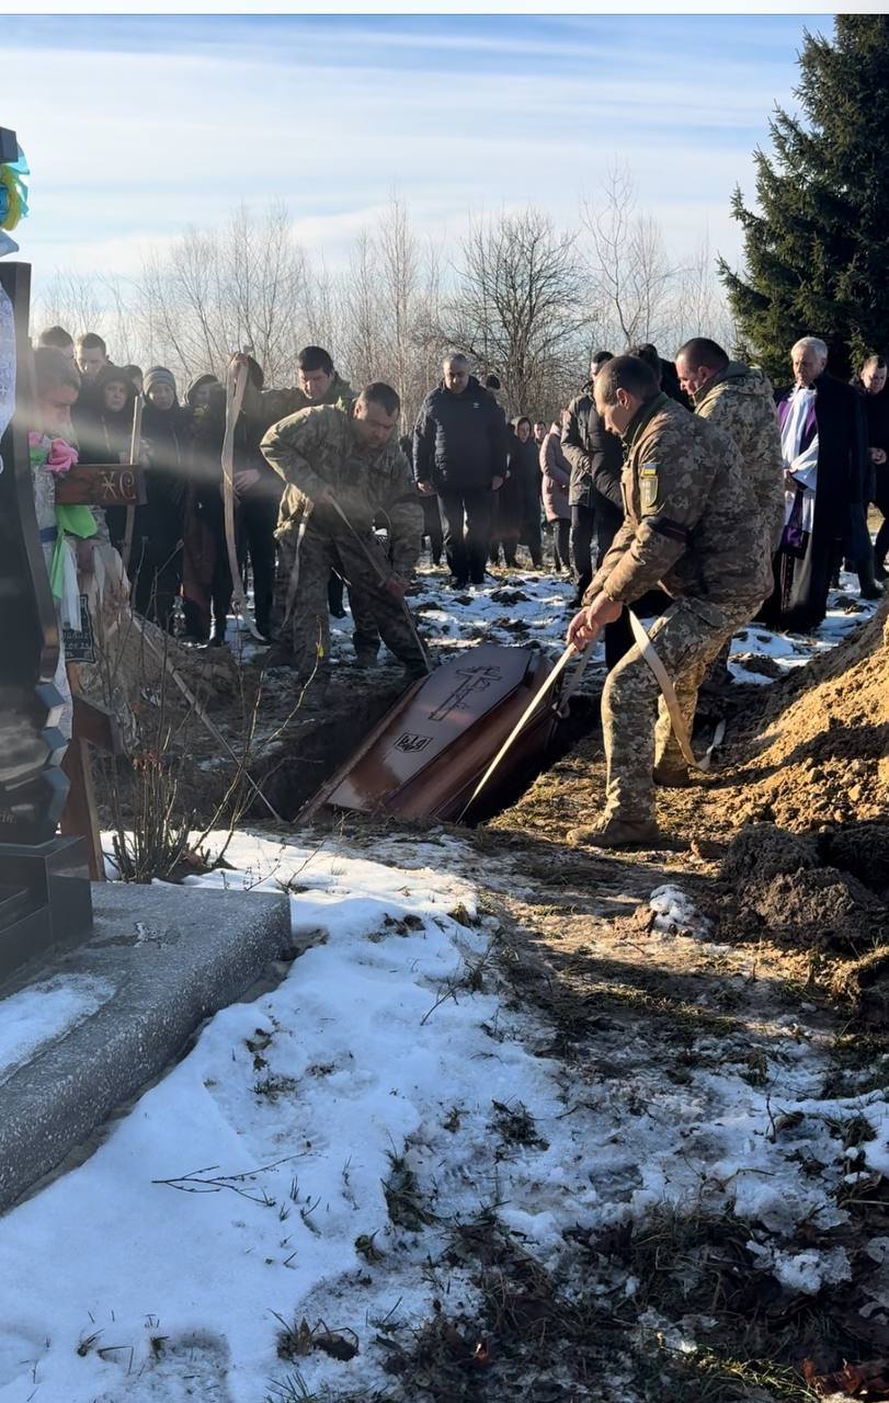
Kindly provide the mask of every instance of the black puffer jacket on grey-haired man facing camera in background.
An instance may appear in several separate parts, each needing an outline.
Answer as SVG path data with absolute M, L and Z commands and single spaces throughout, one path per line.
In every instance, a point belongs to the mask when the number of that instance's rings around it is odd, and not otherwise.
M 506 476 L 506 421 L 474 375 L 463 394 L 444 382 L 423 400 L 414 429 L 414 473 L 436 492 L 489 491 Z

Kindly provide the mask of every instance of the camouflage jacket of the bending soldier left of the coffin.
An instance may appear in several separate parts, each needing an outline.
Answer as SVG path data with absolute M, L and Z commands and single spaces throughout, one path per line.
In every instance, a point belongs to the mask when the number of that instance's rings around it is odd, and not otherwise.
M 395 572 L 411 574 L 419 556 L 423 512 L 414 473 L 397 442 L 386 443 L 379 453 L 363 453 L 352 415 L 315 404 L 273 424 L 261 448 L 287 484 L 278 536 L 297 530 L 310 506 L 310 529 L 331 536 L 344 533 L 346 528 L 330 508 L 314 506 L 315 498 L 328 495 L 359 535 L 369 535 L 374 516 L 383 516 Z

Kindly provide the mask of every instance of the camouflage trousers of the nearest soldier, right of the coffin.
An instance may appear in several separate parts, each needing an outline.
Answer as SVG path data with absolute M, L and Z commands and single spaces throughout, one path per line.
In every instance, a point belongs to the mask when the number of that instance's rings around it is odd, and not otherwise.
M 747 623 L 759 600 L 718 609 L 701 599 L 676 599 L 649 637 L 676 689 L 688 734 L 704 673 L 724 643 Z M 637 647 L 607 676 L 602 693 L 606 753 L 606 817 L 655 817 L 655 765 L 684 765 L 658 680 Z

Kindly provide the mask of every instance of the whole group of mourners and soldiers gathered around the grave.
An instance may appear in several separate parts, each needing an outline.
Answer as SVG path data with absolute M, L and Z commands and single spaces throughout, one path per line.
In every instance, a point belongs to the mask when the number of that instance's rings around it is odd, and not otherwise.
M 101 539 L 126 558 L 137 616 L 184 643 L 226 645 L 227 435 L 234 554 L 252 584 L 264 661 L 290 669 L 308 709 L 324 702 L 330 616 L 345 617 L 344 589 L 359 664 L 373 665 L 383 643 L 407 676 L 426 671 L 407 606 L 423 537 L 460 592 L 484 585 L 492 565 L 517 567 L 520 547 L 531 570 L 569 572 L 566 638 L 582 648 L 603 633 L 609 669 L 604 818 L 578 840 L 652 839 L 655 783 L 688 780 L 628 606 L 656 619 L 652 644 L 691 721 L 735 630 L 752 619 L 812 630 L 844 565 L 864 598 L 886 579 L 886 362 L 867 356 L 848 384 L 827 372 L 816 337 L 789 351 L 792 383 L 781 393 L 704 337 L 674 361 L 651 344 L 599 351 L 550 424 L 508 421 L 496 375 L 471 373 L 456 352 L 402 436 L 395 390 L 353 390 L 321 347 L 300 352 L 293 387 L 268 387 L 252 356 L 237 355 L 229 384 L 208 372 L 184 394 L 163 366 L 112 363 L 94 333 L 74 341 L 50 327 L 34 355 L 38 526 L 63 617 L 66 589 L 80 595 Z M 53 513 L 55 476 L 77 457 L 130 462 L 136 400 L 144 501 L 129 519 L 123 506 Z M 882 513 L 875 540 L 871 504 Z

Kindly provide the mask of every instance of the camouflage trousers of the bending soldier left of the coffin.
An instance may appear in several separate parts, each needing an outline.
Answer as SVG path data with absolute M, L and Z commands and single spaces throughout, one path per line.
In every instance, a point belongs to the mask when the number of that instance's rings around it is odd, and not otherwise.
M 369 550 L 379 550 L 367 537 Z M 383 554 L 380 553 L 380 563 Z M 377 647 L 377 637 L 405 666 L 425 671 L 423 655 L 398 599 L 381 585 L 358 540 L 308 525 L 301 540 L 287 532 L 279 540 L 273 619 L 279 645 L 292 654 L 300 679 L 331 673 L 331 631 L 327 582 L 331 570 L 346 581 L 355 619 L 355 643 Z M 296 571 L 296 591 L 292 581 Z M 287 616 L 287 599 L 290 612 Z M 317 671 L 315 671 L 317 668 Z

